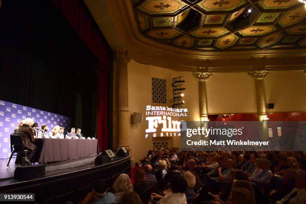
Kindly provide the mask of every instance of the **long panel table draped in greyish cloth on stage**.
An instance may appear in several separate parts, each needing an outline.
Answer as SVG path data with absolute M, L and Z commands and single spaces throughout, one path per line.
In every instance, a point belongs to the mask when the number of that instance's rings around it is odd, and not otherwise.
M 98 153 L 97 139 L 35 139 L 35 161 L 40 163 L 76 159 Z

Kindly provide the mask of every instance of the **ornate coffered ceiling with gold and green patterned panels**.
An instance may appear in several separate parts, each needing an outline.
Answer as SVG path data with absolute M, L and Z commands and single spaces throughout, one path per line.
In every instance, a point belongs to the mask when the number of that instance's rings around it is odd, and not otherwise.
M 298 0 L 131 0 L 131 4 L 138 31 L 168 46 L 203 52 L 306 46 L 306 10 Z

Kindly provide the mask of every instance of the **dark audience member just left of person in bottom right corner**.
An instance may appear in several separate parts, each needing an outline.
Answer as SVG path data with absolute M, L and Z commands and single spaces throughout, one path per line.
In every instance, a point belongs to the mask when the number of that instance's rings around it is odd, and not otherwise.
M 283 171 L 281 184 L 276 190 L 271 190 L 270 192 L 272 203 L 280 200 L 283 196 L 291 192 L 291 190 L 295 187 L 295 179 L 297 175 L 297 170 L 294 168 L 286 168 Z

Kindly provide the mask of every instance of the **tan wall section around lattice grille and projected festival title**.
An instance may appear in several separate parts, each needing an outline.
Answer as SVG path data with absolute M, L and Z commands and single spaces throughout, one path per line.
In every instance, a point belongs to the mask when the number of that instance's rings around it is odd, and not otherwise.
M 166 106 L 171 106 L 172 100 L 172 78 L 183 76 L 185 80 L 184 92 L 185 105 L 188 109 L 188 116 L 186 120 L 198 120 L 198 87 L 197 81 L 191 72 L 179 72 L 171 69 L 160 68 L 151 65 L 140 64 L 131 60 L 127 65 L 128 73 L 128 106 L 130 115 L 133 112 L 145 112 L 146 105 L 163 105 L 153 104 L 151 102 L 151 77 L 163 78 L 167 82 L 167 101 Z M 147 121 L 145 116 L 142 123 L 132 124 L 129 121 L 129 145 L 132 149 L 132 158 L 137 162 L 142 158 L 148 149 L 152 149 L 152 137 L 145 138 L 145 129 L 147 128 Z M 162 140 L 162 137 L 154 137 L 154 140 Z M 167 140 L 167 139 L 166 139 Z M 173 137 L 168 140 L 169 145 L 178 146 L 179 137 Z

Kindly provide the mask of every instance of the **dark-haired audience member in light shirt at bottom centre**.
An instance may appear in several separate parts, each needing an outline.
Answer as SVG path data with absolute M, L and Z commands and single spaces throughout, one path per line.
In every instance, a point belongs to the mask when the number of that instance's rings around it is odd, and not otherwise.
M 152 193 L 154 199 L 160 199 L 158 204 L 186 204 L 186 196 L 184 192 L 187 189 L 187 181 L 183 176 L 174 174 L 170 179 L 169 192 L 164 196 Z

